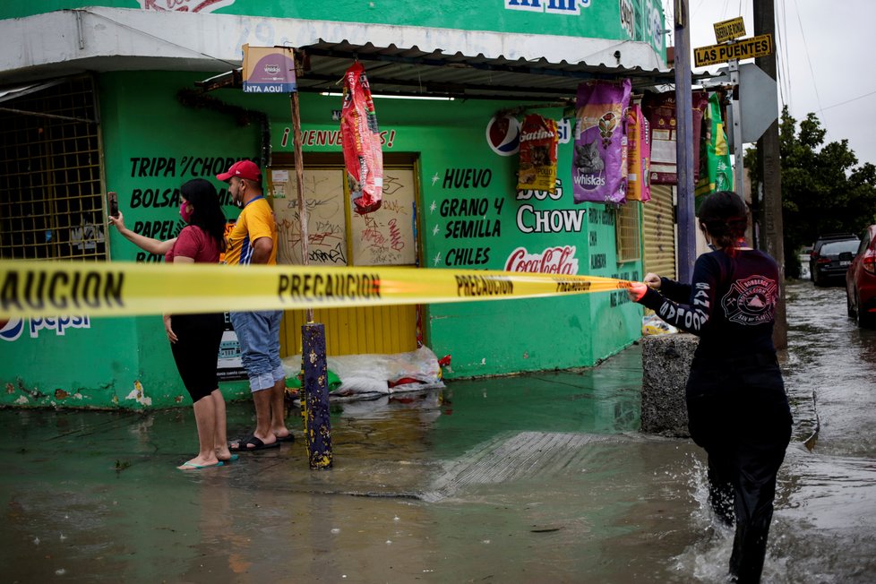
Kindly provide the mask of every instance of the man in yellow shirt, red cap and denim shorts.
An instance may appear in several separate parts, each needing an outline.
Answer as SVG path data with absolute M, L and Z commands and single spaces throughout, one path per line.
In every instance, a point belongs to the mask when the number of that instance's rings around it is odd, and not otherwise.
M 228 183 L 232 201 L 243 210 L 228 235 L 225 262 L 229 265 L 276 264 L 277 223 L 262 193 L 262 171 L 250 160 L 240 160 L 217 175 Z M 234 452 L 258 451 L 291 442 L 286 427 L 284 396 L 286 374 L 279 359 L 281 310 L 231 312 L 240 342 L 241 360 L 249 377 L 255 405 L 253 434 L 228 445 Z

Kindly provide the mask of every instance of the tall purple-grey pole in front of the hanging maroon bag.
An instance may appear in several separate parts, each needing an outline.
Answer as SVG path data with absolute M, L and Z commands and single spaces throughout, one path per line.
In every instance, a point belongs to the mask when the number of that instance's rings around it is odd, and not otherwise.
M 697 259 L 693 209 L 693 99 L 688 0 L 675 2 L 675 173 L 678 177 L 678 280 L 690 282 Z

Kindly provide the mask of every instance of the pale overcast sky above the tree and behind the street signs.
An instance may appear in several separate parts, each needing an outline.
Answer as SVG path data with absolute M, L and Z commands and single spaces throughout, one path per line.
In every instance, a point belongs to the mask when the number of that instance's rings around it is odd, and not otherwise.
M 754 0 L 689 0 L 691 46 L 715 44 L 715 22 L 742 16 L 754 35 Z M 770 0 L 758 0 L 769 2 Z M 798 121 L 814 112 L 825 142 L 847 139 L 859 164 L 876 164 L 876 0 L 772 0 L 776 6 L 779 108 Z M 668 6 L 667 6 L 668 4 Z M 673 0 L 664 0 L 666 24 Z M 674 45 L 674 35 L 667 35 Z M 691 56 L 691 59 L 693 57 Z M 753 62 L 753 60 L 751 61 Z M 721 65 L 711 65 L 715 71 Z

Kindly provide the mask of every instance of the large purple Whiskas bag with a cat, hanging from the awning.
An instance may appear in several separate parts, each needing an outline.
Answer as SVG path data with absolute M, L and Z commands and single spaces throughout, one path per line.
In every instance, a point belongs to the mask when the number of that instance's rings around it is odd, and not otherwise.
M 627 168 L 626 109 L 631 82 L 583 82 L 578 86 L 571 180 L 575 202 L 623 203 Z

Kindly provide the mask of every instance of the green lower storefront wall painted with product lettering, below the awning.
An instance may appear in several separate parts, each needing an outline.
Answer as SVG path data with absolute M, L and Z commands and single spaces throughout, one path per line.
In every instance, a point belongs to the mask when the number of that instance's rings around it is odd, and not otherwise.
M 229 159 L 258 156 L 259 124 L 238 125 L 237 118 L 227 113 L 184 107 L 176 99 L 178 90 L 192 88 L 193 82 L 211 74 L 99 76 L 107 190 L 119 193 L 126 224 L 144 235 L 167 238 L 176 233 L 181 224 L 174 193 L 186 180 L 211 179 L 228 201 L 225 185 L 215 181 L 214 173 L 224 169 Z M 274 152 L 292 151 L 291 142 L 282 142 L 289 125 L 288 98 L 240 90 L 219 90 L 211 97 L 266 113 Z M 340 108 L 340 98 L 314 94 L 300 98 L 305 133 L 337 130 L 331 113 Z M 496 154 L 486 139 L 491 118 L 508 106 L 377 99 L 378 119 L 388 137 L 384 151 L 419 155 L 423 266 L 504 270 L 511 253 L 521 247 L 530 255 L 574 247 L 567 262 L 577 261 L 575 273 L 640 279 L 640 262 L 616 262 L 614 214 L 603 205 L 573 204 L 571 188 L 565 186 L 571 182 L 571 143 L 560 147 L 562 195 L 554 199 L 530 193 L 519 199 L 514 184 L 516 157 Z M 556 118 L 562 115 L 559 110 L 540 111 Z M 317 145 L 305 150 L 340 151 L 339 146 Z M 467 169 L 472 170 L 468 184 Z M 477 205 L 469 204 L 476 201 Z M 466 210 L 462 202 L 467 203 Z M 236 217 L 235 207 L 226 205 L 225 210 L 229 218 Z M 534 229 L 537 214 L 566 218 L 570 227 L 524 232 Z M 549 219 L 546 225 L 561 226 L 563 221 L 557 221 Z M 463 233 L 477 222 L 479 231 Z M 107 235 L 115 262 L 162 261 L 138 258 L 139 250 L 115 229 L 107 230 Z M 449 256 L 460 260 L 448 263 Z M 640 336 L 640 307 L 625 301 L 625 293 L 617 292 L 428 305 L 425 339 L 436 354 L 452 356 L 449 378 L 594 365 Z M 0 395 L 0 404 L 155 408 L 191 403 L 158 316 L 91 319 L 89 329 L 67 328 L 64 335 L 38 332 L 31 338 L 24 331 L 15 342 L 2 343 L 0 381 L 7 391 Z M 137 387 L 142 387 L 142 395 L 136 393 Z M 245 382 L 222 387 L 229 397 L 247 394 Z M 71 395 L 78 392 L 82 398 L 56 399 L 56 389 Z M 34 391 L 41 397 L 34 398 Z

